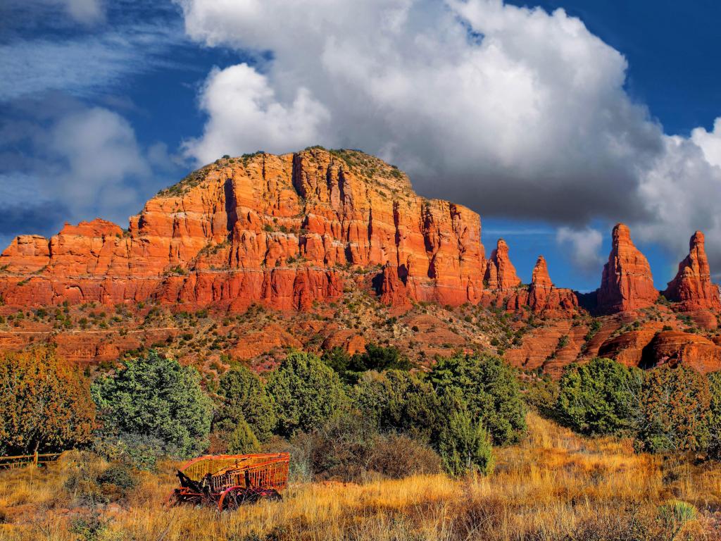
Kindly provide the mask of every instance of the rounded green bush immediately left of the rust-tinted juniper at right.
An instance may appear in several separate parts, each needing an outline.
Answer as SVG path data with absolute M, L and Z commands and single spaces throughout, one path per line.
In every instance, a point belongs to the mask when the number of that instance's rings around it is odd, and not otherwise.
M 559 387 L 557 416 L 575 431 L 622 434 L 634 428 L 640 408 L 640 370 L 596 358 L 583 366 L 570 365 Z

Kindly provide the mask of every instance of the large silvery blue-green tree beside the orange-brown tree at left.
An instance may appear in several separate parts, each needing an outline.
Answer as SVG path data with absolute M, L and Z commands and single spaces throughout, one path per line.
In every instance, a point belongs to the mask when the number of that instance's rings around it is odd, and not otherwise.
M 157 452 L 192 457 L 208 447 L 211 400 L 200 375 L 155 351 L 92 387 L 105 429 L 120 441 L 158 441 Z

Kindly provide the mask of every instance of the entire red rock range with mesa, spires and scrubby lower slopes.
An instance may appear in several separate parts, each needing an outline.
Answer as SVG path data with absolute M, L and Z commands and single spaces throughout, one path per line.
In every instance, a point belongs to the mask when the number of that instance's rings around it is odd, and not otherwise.
M 598 353 L 721 367 L 701 232 L 663 296 L 624 224 L 585 295 L 555 286 L 543 256 L 521 284 L 506 242 L 486 259 L 480 239 L 476 213 L 417 195 L 360 151 L 224 157 L 158 193 L 128 229 L 96 219 L 14 239 L 0 255 L 0 348 L 50 341 L 103 361 L 164 345 L 207 365 L 373 340 L 419 362 L 495 348 L 554 373 Z M 263 329 L 247 318 L 258 307 L 270 311 Z

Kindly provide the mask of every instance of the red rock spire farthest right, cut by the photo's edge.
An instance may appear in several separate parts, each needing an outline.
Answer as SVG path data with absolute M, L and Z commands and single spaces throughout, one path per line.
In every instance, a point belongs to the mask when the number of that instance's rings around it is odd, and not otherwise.
M 680 303 L 681 310 L 721 309 L 718 287 L 711 283 L 711 269 L 704 249 L 704 234 L 694 233 L 689 255 L 678 263 L 676 278 L 663 291 L 666 299 Z

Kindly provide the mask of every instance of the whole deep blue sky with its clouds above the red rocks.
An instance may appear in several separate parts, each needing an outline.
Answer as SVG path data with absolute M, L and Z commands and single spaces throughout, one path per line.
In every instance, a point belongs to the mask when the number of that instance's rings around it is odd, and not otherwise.
M 697 228 L 721 270 L 720 5 L 361 4 L 7 1 L 0 242 L 125 226 L 214 157 L 324 144 L 474 208 L 524 281 L 542 253 L 595 289 L 615 221 L 660 288 Z

